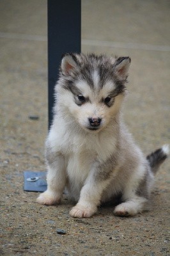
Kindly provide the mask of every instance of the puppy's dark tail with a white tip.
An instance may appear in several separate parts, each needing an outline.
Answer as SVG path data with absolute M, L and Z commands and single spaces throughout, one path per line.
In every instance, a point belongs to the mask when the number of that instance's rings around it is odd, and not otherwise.
M 158 148 L 155 152 L 146 157 L 149 161 L 151 170 L 155 174 L 158 171 L 160 164 L 162 164 L 169 154 L 169 145 L 164 145 L 162 148 Z

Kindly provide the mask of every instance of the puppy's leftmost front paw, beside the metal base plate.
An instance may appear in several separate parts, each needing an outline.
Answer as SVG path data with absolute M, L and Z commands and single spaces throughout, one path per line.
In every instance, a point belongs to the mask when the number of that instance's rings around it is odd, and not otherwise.
M 59 204 L 61 202 L 61 195 L 46 190 L 45 192 L 40 194 L 40 196 L 38 196 L 36 202 L 45 205 Z

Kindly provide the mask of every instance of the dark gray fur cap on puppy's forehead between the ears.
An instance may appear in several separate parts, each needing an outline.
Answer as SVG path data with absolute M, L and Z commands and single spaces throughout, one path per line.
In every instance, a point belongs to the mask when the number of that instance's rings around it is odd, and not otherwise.
M 107 81 L 113 81 L 116 85 L 116 89 L 114 89 L 113 95 L 114 97 L 120 93 L 125 91 L 125 83 L 127 83 L 126 79 L 120 80 L 115 74 L 115 65 L 111 63 L 111 59 L 105 55 L 95 56 L 94 54 L 88 54 L 84 56 L 84 54 L 79 54 L 79 58 L 77 54 L 71 55 L 77 67 L 72 69 L 72 75 L 63 74 L 62 70 L 60 72 L 60 77 L 64 79 L 63 87 L 66 90 L 72 91 L 72 86 L 75 84 L 75 81 L 86 81 L 89 87 L 92 90 L 95 90 L 95 85 L 93 83 L 93 72 L 97 70 L 99 75 L 99 83 L 98 89 L 104 87 Z

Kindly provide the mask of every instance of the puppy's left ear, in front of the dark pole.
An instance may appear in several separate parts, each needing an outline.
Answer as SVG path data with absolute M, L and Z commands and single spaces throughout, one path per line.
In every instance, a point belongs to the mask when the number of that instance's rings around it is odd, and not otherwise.
M 63 59 L 61 60 L 61 70 L 64 74 L 70 74 L 76 66 L 77 64 L 73 54 L 65 54 L 65 56 L 63 56 Z

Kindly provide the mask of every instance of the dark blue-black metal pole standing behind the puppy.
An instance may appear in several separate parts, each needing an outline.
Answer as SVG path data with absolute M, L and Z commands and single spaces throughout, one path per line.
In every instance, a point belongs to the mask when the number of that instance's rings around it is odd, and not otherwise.
M 49 127 L 61 56 L 81 52 L 81 0 L 48 0 Z

